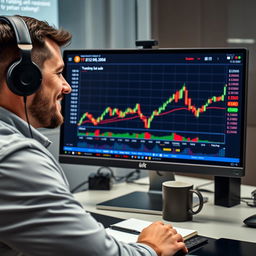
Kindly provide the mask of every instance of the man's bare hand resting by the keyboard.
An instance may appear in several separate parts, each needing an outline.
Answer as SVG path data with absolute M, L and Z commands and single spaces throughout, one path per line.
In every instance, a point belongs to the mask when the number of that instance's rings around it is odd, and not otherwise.
M 182 236 L 177 234 L 172 225 L 165 225 L 161 221 L 143 229 L 137 242 L 152 247 L 158 256 L 171 256 L 179 250 L 184 251 L 184 254 L 188 252 Z

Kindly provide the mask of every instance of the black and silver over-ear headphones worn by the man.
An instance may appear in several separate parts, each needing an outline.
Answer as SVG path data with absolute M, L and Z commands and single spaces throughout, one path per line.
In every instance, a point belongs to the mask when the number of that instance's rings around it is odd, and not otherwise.
M 32 41 L 25 21 L 17 16 L 0 16 L 0 21 L 8 24 L 15 33 L 20 59 L 7 70 L 8 88 L 19 96 L 36 92 L 42 82 L 40 68 L 31 60 Z

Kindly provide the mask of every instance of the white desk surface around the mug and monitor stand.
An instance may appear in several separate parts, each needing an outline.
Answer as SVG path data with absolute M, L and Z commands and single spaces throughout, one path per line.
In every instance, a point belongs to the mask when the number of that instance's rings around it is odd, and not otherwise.
M 189 181 L 195 186 L 207 183 L 209 180 L 183 177 L 176 175 L 176 180 Z M 142 182 L 147 182 L 144 178 Z M 213 185 L 205 188 L 212 188 Z M 244 186 L 241 187 L 241 196 L 249 197 L 251 192 L 256 187 Z M 103 201 L 127 194 L 132 191 L 147 191 L 148 186 L 137 184 L 114 184 L 110 191 L 85 191 L 75 194 L 75 198 L 81 202 L 87 211 L 104 214 L 118 218 L 138 218 L 149 221 L 162 220 L 161 215 L 149 215 L 141 213 L 118 212 L 109 210 L 98 210 L 96 204 Z M 194 215 L 193 221 L 187 222 L 172 222 L 176 227 L 195 229 L 199 235 L 208 236 L 212 238 L 229 238 L 242 241 L 249 241 L 256 243 L 256 229 L 246 227 L 243 220 L 253 214 L 256 214 L 256 208 L 251 208 L 245 203 L 226 208 L 214 205 L 214 195 L 210 193 L 203 193 L 209 198 L 209 201 L 204 205 L 202 211 Z M 165 221 L 166 222 L 166 221 Z

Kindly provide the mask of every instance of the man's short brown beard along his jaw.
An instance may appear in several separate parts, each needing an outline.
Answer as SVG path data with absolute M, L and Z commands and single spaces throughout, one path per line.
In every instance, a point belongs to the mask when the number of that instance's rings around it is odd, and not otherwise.
M 43 95 L 42 90 L 39 90 L 29 106 L 29 113 L 33 116 L 40 127 L 56 128 L 63 122 L 63 117 L 57 115 L 56 105 L 49 108 L 49 100 Z

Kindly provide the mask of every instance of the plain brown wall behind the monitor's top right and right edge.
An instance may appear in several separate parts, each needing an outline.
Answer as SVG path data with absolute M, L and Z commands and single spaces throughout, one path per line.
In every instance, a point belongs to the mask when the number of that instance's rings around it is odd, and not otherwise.
M 152 0 L 151 3 L 152 35 L 159 41 L 159 47 L 248 48 L 247 162 L 243 183 L 256 185 L 256 1 Z

